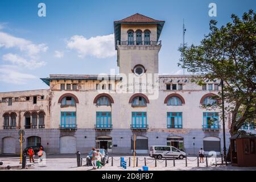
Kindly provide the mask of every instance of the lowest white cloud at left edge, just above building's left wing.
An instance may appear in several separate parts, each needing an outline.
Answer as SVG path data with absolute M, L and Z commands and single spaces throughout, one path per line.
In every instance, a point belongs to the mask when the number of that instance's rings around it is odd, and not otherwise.
M 8 84 L 26 84 L 28 80 L 35 79 L 34 75 L 20 73 L 15 66 L 2 65 L 0 66 L 0 80 Z

